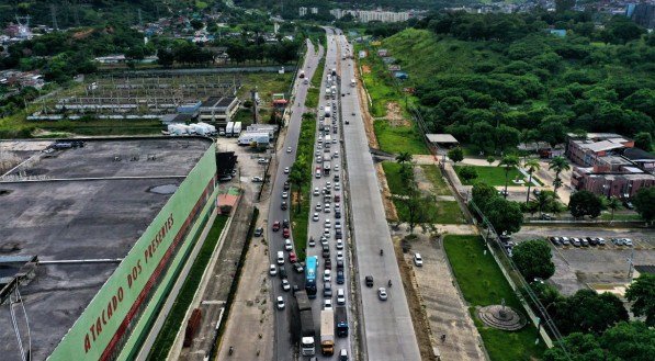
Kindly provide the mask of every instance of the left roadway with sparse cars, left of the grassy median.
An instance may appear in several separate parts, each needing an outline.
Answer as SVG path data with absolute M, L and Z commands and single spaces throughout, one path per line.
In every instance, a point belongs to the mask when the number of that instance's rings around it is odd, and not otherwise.
M 305 57 L 305 63 L 303 64 L 303 69 L 305 70 L 305 75 L 308 79 L 312 79 L 314 75 L 314 70 L 316 69 L 319 59 L 324 55 L 323 46 L 319 46 L 318 54 L 315 54 L 314 46 L 312 42 L 307 42 L 307 53 Z M 268 229 L 267 229 L 267 240 L 269 241 L 269 259 L 271 264 L 276 264 L 276 252 L 280 250 L 284 250 L 284 238 L 282 237 L 282 230 L 272 232 L 271 227 L 275 221 L 282 222 L 283 219 L 290 219 L 289 210 L 282 211 L 282 198 L 281 194 L 283 192 L 284 181 L 286 180 L 286 174 L 284 174 L 284 168 L 290 167 L 293 165 L 296 153 L 295 149 L 298 143 L 298 136 L 301 132 L 301 117 L 305 112 L 305 98 L 307 97 L 307 88 L 308 86 L 303 84 L 302 81 L 295 82 L 296 87 L 296 95 L 295 100 L 292 104 L 292 114 L 289 121 L 289 126 L 286 128 L 286 137 L 284 139 L 284 146 L 280 149 L 280 151 L 275 155 L 278 160 L 278 169 L 275 177 L 271 180 L 274 182 L 272 185 L 272 193 L 269 203 L 269 217 L 268 217 Z M 286 153 L 286 148 L 291 147 L 293 149 L 292 153 Z M 290 200 L 286 200 L 290 203 Z M 290 206 L 291 208 L 291 206 Z M 304 287 L 304 273 L 298 274 L 292 270 L 291 263 L 289 262 L 289 252 L 284 251 L 285 262 L 284 268 L 286 269 L 286 274 L 289 275 L 289 282 L 293 284 L 297 284 L 301 287 Z M 292 311 L 294 309 L 295 302 L 293 301 L 292 292 L 284 292 L 281 286 L 281 279 L 280 277 L 271 277 L 272 282 L 272 292 L 270 298 L 271 307 L 275 307 L 275 298 L 279 295 L 284 297 L 284 302 L 286 304 L 285 309 L 283 311 L 274 311 L 275 315 L 275 340 L 274 340 L 274 354 L 275 360 L 279 361 L 287 361 L 294 359 L 294 342 L 292 342 L 291 337 L 291 327 L 292 317 L 290 316 Z M 316 321 L 316 320 L 315 320 Z

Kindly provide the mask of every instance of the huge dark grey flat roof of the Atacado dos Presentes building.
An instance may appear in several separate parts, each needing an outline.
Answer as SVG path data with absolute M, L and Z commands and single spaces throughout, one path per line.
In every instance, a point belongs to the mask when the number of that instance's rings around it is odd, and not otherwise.
M 19 290 L 35 360 L 49 356 L 211 146 L 200 137 L 84 142 L 34 149 L 23 168 L 0 179 L 0 255 L 39 261 L 13 267 L 34 272 Z M 20 360 L 4 306 L 0 338 L 2 360 Z

